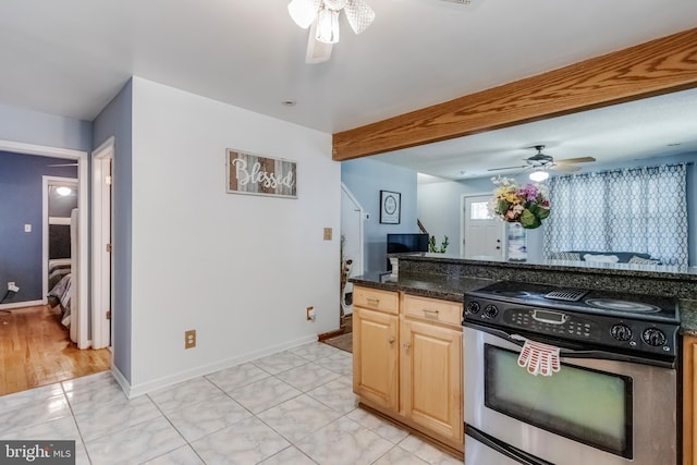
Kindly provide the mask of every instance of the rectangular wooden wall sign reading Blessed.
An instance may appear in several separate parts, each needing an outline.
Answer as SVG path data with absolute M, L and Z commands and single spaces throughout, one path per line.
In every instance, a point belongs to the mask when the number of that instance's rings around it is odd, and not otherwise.
M 297 163 L 228 149 L 228 193 L 297 198 Z

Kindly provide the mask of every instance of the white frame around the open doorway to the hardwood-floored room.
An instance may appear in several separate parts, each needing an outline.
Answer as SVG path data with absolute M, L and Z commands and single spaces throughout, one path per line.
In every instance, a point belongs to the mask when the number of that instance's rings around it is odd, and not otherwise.
M 0 150 L 11 151 L 14 154 L 35 155 L 39 157 L 51 158 L 64 158 L 77 162 L 77 217 L 78 217 L 78 231 L 80 237 L 89 237 L 89 179 L 88 159 L 87 152 L 83 150 L 74 150 L 70 148 L 49 147 L 44 145 L 25 144 L 14 140 L 0 139 Z M 89 265 L 89 241 L 80 241 L 78 244 L 78 267 L 83 270 L 87 270 Z M 48 262 L 44 261 L 41 266 L 41 272 L 44 276 L 48 273 Z M 78 292 L 74 298 L 77 299 L 78 308 L 89 308 L 89 273 L 83 272 L 78 277 Z M 48 290 L 47 290 L 48 292 Z M 78 341 L 88 342 L 88 326 L 87 326 L 87 311 L 81 313 L 81 323 L 78 328 L 82 334 L 78 334 Z M 83 347 L 81 347 L 83 348 Z

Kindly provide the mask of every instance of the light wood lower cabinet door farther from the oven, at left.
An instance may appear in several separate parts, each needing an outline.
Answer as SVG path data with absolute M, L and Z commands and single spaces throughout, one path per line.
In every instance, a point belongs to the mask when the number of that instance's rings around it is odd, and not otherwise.
M 353 390 L 398 411 L 398 321 L 395 315 L 354 307 Z

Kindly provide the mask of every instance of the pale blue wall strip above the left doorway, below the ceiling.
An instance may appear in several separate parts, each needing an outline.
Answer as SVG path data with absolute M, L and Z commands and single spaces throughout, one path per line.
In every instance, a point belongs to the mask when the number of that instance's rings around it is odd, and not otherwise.
M 91 149 L 91 123 L 0 105 L 0 139 L 70 148 Z

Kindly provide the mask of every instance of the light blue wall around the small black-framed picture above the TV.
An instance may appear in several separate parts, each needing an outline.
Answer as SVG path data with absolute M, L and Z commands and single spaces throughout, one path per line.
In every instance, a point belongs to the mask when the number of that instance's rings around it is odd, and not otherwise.
M 388 233 L 420 232 L 416 223 L 416 172 L 360 158 L 341 163 L 341 181 L 369 216 L 364 223 L 364 272 L 384 271 Z M 402 194 L 400 224 L 380 223 L 380 191 Z

